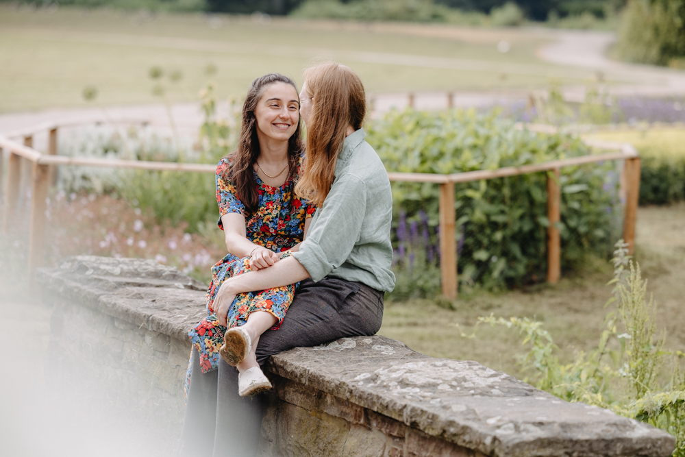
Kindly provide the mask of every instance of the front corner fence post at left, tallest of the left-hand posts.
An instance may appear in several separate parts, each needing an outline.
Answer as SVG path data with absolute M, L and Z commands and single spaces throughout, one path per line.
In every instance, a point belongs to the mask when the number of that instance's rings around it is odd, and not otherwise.
M 50 186 L 49 166 L 33 164 L 31 191 L 31 222 L 29 224 L 29 270 L 33 271 L 42 263 L 45 255 L 45 225 L 47 217 L 47 190 Z

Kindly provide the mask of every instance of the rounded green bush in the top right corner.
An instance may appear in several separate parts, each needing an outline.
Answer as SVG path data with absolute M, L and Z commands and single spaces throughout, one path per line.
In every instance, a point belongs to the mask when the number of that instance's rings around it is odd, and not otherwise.
M 619 29 L 618 51 L 630 62 L 685 64 L 685 1 L 630 0 Z

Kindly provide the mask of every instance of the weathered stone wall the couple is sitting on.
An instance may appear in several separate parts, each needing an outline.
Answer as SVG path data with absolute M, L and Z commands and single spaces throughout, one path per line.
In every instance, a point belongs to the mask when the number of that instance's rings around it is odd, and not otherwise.
M 54 304 L 49 371 L 164 417 L 178 436 L 204 286 L 149 260 L 77 257 L 42 270 Z M 383 336 L 273 356 L 262 422 L 269 456 L 669 456 L 669 434 L 569 404 L 477 362 L 436 359 Z M 75 379 L 78 380 L 75 382 Z M 126 391 L 129 395 L 116 395 Z

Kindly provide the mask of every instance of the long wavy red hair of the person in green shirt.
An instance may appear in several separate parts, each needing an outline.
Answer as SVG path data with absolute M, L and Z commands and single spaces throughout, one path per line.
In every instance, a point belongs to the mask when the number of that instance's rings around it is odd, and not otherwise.
M 335 179 L 347 126 L 357 130 L 364 123 L 366 94 L 359 76 L 336 62 L 306 69 L 304 79 L 313 106 L 307 123 L 307 158 L 295 193 L 321 207 Z

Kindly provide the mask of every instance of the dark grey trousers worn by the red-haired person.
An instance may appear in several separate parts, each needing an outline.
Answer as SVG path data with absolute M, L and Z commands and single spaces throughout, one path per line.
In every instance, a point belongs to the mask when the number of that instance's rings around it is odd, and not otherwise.
M 383 293 L 360 282 L 324 278 L 301 282 L 279 330 L 267 330 L 257 360 L 293 347 L 316 346 L 344 336 L 375 334 L 383 320 Z M 193 349 L 182 456 L 252 457 L 262 426 L 262 395 L 238 396 L 238 370 L 219 360 L 202 373 Z

